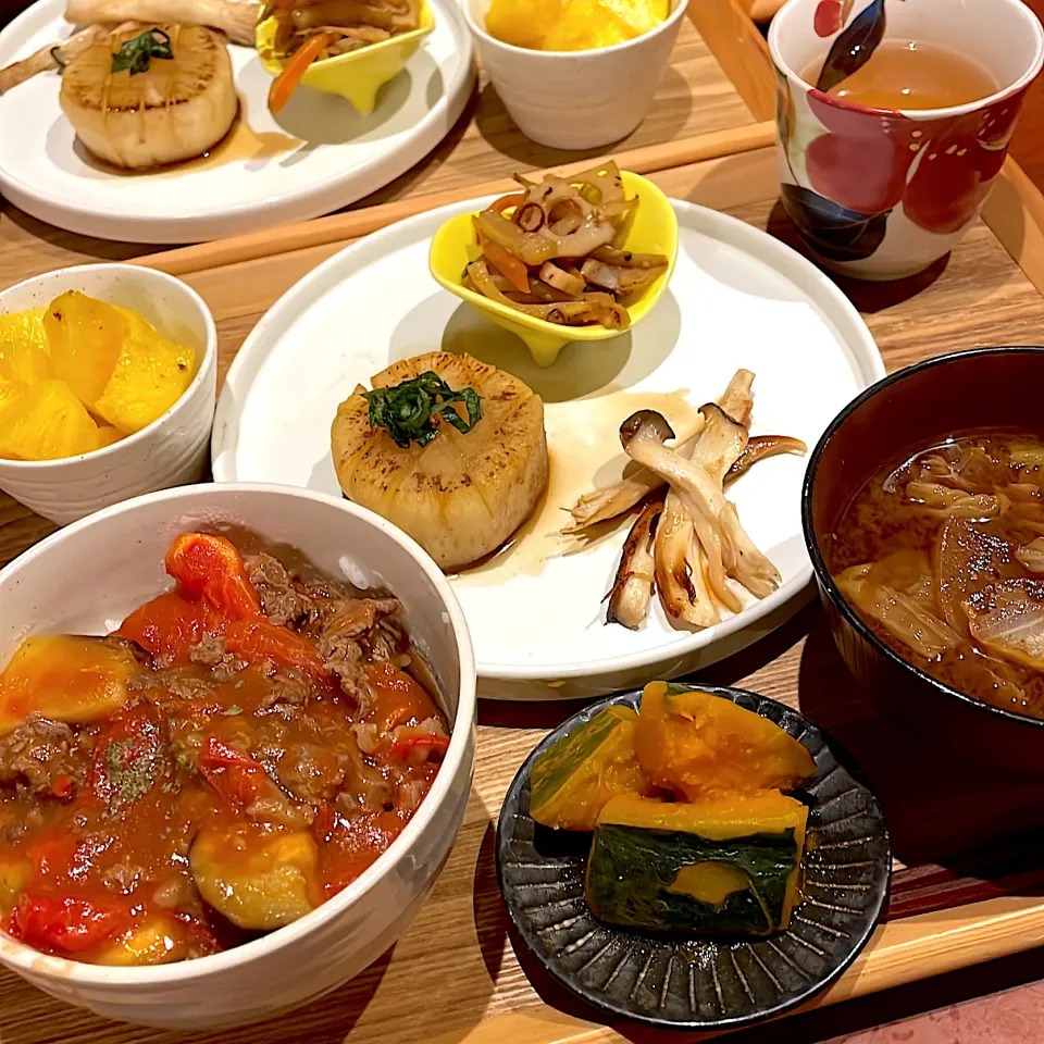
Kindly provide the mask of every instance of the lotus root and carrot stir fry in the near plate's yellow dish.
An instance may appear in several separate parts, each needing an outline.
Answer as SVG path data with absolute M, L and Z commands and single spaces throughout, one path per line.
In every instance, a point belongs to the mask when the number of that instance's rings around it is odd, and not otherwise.
M 626 330 L 627 303 L 670 262 L 624 249 L 639 201 L 624 197 L 617 164 L 514 179 L 521 192 L 475 215 L 481 256 L 464 270 L 464 286 L 549 323 Z

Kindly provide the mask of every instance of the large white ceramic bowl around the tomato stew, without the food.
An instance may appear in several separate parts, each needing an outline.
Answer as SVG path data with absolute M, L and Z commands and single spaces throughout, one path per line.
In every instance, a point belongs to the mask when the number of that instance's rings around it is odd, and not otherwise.
M 27 634 L 100 633 L 170 585 L 179 532 L 245 525 L 303 551 L 332 576 L 386 585 L 438 680 L 452 736 L 402 833 L 347 888 L 300 920 L 211 957 L 103 968 L 49 957 L 0 933 L 0 964 L 51 996 L 126 1022 L 173 1029 L 270 1018 L 358 974 L 412 920 L 464 815 L 475 753 L 475 662 L 448 582 L 406 534 L 347 500 L 228 483 L 138 497 L 65 530 L 0 571 L 0 664 Z M 408 1012 L 403 1012 L 409 1018 Z

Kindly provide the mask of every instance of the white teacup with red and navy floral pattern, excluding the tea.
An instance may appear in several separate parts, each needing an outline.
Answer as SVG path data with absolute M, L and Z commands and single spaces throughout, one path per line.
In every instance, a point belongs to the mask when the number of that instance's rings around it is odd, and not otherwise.
M 829 54 L 841 82 L 890 38 L 974 59 L 1000 89 L 948 109 L 869 109 L 799 75 Z M 783 207 L 826 266 L 866 279 L 912 275 L 960 239 L 1044 63 L 1044 32 L 1020 0 L 790 0 L 769 47 Z

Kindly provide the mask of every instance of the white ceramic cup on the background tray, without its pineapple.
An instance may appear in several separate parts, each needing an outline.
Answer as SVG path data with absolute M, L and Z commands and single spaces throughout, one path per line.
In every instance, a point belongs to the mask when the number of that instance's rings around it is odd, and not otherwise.
M 597 149 L 643 120 L 667 70 L 688 0 L 650 33 L 589 51 L 534 51 L 486 32 L 490 0 L 462 0 L 482 65 L 519 129 L 555 149 Z

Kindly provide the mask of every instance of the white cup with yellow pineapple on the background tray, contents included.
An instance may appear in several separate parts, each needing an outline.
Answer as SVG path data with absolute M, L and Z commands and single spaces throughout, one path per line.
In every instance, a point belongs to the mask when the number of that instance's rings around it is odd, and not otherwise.
M 482 64 L 522 133 L 597 149 L 642 122 L 687 0 L 463 0 Z

